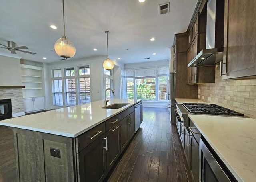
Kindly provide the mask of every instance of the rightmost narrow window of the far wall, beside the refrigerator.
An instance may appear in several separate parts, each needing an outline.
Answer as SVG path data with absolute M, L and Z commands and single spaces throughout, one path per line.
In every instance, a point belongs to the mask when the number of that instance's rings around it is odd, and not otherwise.
M 158 67 L 158 100 L 167 100 L 168 67 Z

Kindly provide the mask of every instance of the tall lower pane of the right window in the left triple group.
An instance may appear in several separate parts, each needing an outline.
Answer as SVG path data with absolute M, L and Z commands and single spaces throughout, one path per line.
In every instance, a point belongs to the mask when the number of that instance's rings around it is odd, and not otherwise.
M 78 104 L 91 102 L 90 78 L 78 78 Z

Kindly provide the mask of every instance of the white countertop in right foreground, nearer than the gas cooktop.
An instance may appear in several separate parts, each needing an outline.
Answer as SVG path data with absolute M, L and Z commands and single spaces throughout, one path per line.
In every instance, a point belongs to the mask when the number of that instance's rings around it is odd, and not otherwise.
M 188 117 L 239 182 L 256 181 L 256 120 L 244 117 Z

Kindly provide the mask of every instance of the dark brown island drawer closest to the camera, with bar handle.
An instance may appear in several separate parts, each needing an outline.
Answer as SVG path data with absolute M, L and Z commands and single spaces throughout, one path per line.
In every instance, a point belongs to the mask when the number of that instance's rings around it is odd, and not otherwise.
M 76 152 L 79 153 L 105 133 L 105 122 L 76 137 Z

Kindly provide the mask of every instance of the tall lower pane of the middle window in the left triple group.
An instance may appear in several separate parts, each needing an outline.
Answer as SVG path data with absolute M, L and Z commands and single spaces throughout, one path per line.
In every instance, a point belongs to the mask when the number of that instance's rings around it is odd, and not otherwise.
M 65 105 L 72 106 L 76 105 L 76 79 L 68 78 L 65 79 Z

